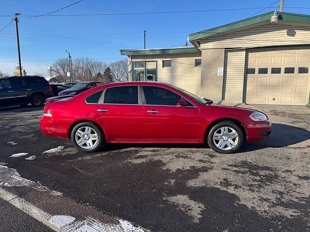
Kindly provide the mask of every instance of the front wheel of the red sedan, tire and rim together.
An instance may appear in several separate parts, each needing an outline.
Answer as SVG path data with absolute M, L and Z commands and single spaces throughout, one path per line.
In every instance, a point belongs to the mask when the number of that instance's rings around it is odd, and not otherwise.
M 235 153 L 243 141 L 244 134 L 240 126 L 231 121 L 215 124 L 208 134 L 209 146 L 218 153 Z

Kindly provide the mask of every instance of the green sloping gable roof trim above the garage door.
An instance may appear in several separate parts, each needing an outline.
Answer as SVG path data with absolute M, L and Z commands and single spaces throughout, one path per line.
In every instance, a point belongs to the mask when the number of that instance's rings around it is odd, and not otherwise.
M 243 28 L 246 26 L 250 26 L 252 24 L 264 22 L 270 20 L 271 16 L 273 15 L 274 11 L 268 12 L 262 15 L 257 15 L 254 17 L 246 18 L 240 21 L 236 21 L 233 23 L 229 23 L 220 27 L 208 29 L 205 31 L 199 31 L 196 33 L 192 33 L 189 35 L 189 41 L 193 42 L 205 37 L 209 37 L 215 34 L 224 33 L 227 31 L 232 31 L 235 29 Z M 285 12 L 277 12 L 279 20 L 283 21 L 291 21 L 291 22 L 299 22 L 299 23 L 310 23 L 310 15 L 300 15 L 294 13 L 285 13 Z

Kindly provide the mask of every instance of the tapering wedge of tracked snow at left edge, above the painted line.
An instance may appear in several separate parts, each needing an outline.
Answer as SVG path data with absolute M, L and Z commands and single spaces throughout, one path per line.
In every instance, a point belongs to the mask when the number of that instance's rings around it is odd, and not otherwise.
M 39 182 L 33 182 L 22 178 L 15 169 L 10 169 L 0 165 L 0 186 L 27 186 L 33 187 L 39 191 L 48 192 L 51 195 L 62 195 L 60 192 L 49 190 L 46 186 L 42 186 Z

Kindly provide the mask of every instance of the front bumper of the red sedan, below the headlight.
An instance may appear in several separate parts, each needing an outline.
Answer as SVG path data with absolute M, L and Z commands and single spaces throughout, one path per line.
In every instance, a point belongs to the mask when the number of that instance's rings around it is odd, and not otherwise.
M 246 141 L 255 142 L 267 139 L 272 131 L 272 124 L 269 120 L 264 122 L 250 122 L 246 128 Z

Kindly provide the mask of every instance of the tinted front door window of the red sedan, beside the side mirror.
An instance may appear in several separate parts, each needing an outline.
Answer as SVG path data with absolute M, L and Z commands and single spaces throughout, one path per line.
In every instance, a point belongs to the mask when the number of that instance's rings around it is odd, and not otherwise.
M 182 97 L 170 90 L 154 86 L 143 86 L 147 105 L 176 106 Z

